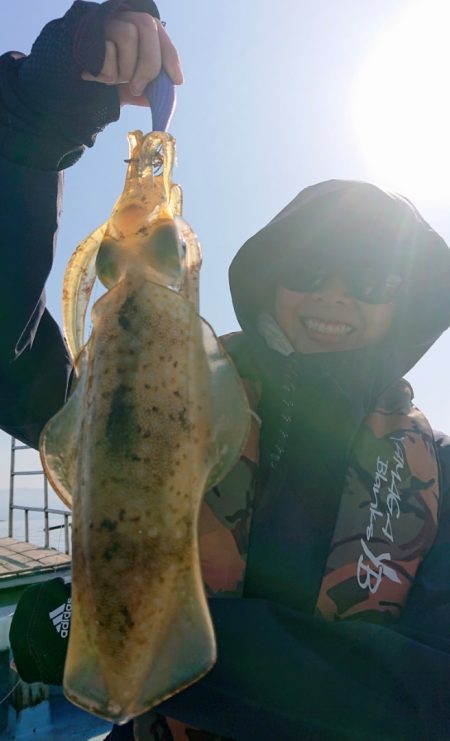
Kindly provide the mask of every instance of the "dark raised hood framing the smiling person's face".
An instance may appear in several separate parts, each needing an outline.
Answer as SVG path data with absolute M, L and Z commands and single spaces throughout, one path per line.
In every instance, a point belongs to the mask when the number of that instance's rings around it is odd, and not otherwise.
M 272 312 L 277 278 L 284 261 L 301 269 L 302 262 L 320 251 L 382 261 L 403 276 L 396 297 L 388 336 L 377 346 L 388 350 L 377 391 L 406 373 L 450 324 L 450 250 L 415 207 L 401 195 L 370 183 L 330 180 L 302 190 L 272 221 L 251 237 L 230 267 L 230 288 L 238 321 L 257 356 L 267 346 L 256 324 L 262 313 Z M 369 354 L 373 355 L 373 349 Z M 351 350 L 320 353 L 321 367 L 344 367 L 368 352 Z M 312 366 L 315 360 L 305 362 Z M 386 361 L 388 359 L 388 367 Z M 272 359 L 273 360 L 273 359 Z M 270 360 L 269 360 L 270 365 Z

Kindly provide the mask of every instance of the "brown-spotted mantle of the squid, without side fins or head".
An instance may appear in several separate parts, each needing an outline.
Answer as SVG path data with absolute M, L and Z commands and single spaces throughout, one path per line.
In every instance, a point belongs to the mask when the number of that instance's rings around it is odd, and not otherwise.
M 65 682 L 123 721 L 215 660 L 195 537 L 214 463 L 209 369 L 188 302 L 137 274 L 100 299 L 93 321 Z M 183 640 L 194 649 L 184 668 Z

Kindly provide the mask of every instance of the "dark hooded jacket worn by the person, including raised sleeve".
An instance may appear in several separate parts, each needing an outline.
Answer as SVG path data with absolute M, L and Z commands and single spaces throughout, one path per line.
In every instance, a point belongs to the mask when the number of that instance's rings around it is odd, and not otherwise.
M 8 110 L 11 98 L 5 92 L 19 84 L 17 66 L 12 74 L 11 64 L 9 59 L 4 61 L 2 105 L 8 113 L 3 121 L 14 128 Z M 43 293 L 58 215 L 60 183 L 52 171 L 55 153 L 48 157 L 47 172 L 33 169 L 45 163 L 36 164 L 31 154 L 25 161 L 23 141 L 29 138 L 32 143 L 31 119 L 27 131 L 20 132 L 20 157 L 11 156 L 6 148 L 5 159 L 0 160 L 2 182 L 8 184 L 1 215 L 8 260 L 0 276 L 4 338 L 0 422 L 36 445 L 40 429 L 63 402 L 68 362 L 58 329 L 45 310 Z M 70 147 L 58 143 L 57 161 L 67 163 L 64 152 Z M 35 149 L 29 146 L 27 151 Z M 343 218 L 332 218 L 336 210 L 342 210 Z M 285 257 L 291 259 L 291 250 L 299 244 L 300 255 L 303 250 L 306 255 L 312 244 L 323 250 L 341 245 L 357 254 L 367 245 L 367 229 L 361 230 L 367 212 L 374 220 L 374 250 L 380 251 L 380 259 L 382 255 L 395 265 L 399 261 L 405 276 L 395 327 L 383 347 L 379 352 L 357 350 L 321 357 L 283 355 L 269 347 L 257 325 L 259 314 L 270 310 L 267 297 L 278 274 L 276 266 Z M 305 225 L 301 240 L 300 222 Z M 450 727 L 448 438 L 435 434 L 430 442 L 441 479 L 438 529 L 400 617 L 381 623 L 325 620 L 315 614 L 315 604 L 352 442 L 380 394 L 395 388 L 401 375 L 448 326 L 447 248 L 405 199 L 374 186 L 333 181 L 304 191 L 249 240 L 233 262 L 230 280 L 243 335 L 229 340 L 227 346 L 255 392 L 256 411 L 262 419 L 260 461 L 256 467 L 255 456 L 250 455 L 244 468 L 208 494 L 207 502 L 228 500 L 236 493 L 246 500 L 255 493 L 248 523 L 247 574 L 240 598 L 219 585 L 210 599 L 217 665 L 160 711 L 182 724 L 208 729 L 208 733 L 190 731 L 194 739 L 446 739 Z M 280 455 L 277 436 L 285 392 L 298 415 L 292 415 L 288 430 L 282 429 L 288 443 Z M 328 435 L 325 441 L 322 432 Z M 321 447 L 327 456 L 320 454 Z M 310 496 L 312 491 L 317 496 Z M 234 504 L 232 509 L 236 514 Z M 236 521 L 240 525 L 242 517 Z M 221 524 L 236 543 L 235 522 L 224 518 Z M 287 550 L 279 548 L 284 541 Z M 157 737 L 167 732 L 159 729 Z

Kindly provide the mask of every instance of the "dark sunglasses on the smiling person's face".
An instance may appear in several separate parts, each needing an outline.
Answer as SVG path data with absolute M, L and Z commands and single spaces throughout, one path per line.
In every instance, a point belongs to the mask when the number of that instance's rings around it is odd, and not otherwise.
M 364 265 L 336 266 L 329 264 L 304 266 L 286 265 L 280 276 L 282 286 L 290 291 L 311 293 L 320 291 L 328 280 L 338 273 L 352 296 L 367 304 L 389 304 L 393 301 L 403 279 L 394 272 Z

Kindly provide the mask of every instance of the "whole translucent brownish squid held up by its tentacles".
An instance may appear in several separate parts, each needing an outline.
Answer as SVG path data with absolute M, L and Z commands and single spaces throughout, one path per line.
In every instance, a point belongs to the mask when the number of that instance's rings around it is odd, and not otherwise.
M 197 313 L 200 249 L 171 181 L 174 139 L 129 142 L 123 194 L 66 271 L 75 389 L 41 439 L 50 482 L 73 506 L 65 693 L 119 723 L 215 661 L 197 519 L 249 426 L 237 373 Z M 85 344 L 96 277 L 107 291 Z

